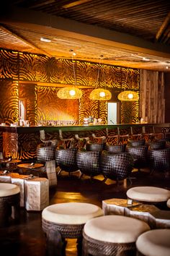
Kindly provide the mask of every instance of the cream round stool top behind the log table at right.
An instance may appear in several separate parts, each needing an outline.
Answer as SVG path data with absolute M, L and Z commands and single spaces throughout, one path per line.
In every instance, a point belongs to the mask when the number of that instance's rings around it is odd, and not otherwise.
M 170 197 L 170 191 L 161 187 L 133 187 L 128 189 L 126 195 L 138 201 L 165 202 Z

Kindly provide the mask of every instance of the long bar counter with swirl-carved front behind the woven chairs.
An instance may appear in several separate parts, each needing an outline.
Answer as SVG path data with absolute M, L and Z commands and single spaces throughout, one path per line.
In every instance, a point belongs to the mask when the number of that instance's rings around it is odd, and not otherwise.
M 59 129 L 63 137 L 91 137 L 103 135 L 125 135 L 153 132 L 169 132 L 170 124 L 98 124 L 98 125 L 71 125 L 71 126 L 37 126 L 37 127 L 0 127 L 0 152 L 4 158 L 29 159 L 36 158 L 37 145 L 40 141 L 40 130 L 45 130 L 47 140 L 59 139 Z

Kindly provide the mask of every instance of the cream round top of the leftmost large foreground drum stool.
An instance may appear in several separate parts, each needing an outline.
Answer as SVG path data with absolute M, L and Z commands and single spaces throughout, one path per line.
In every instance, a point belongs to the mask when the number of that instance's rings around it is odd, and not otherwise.
M 102 208 L 85 202 L 63 202 L 42 210 L 43 219 L 62 224 L 84 224 L 89 219 L 102 215 Z

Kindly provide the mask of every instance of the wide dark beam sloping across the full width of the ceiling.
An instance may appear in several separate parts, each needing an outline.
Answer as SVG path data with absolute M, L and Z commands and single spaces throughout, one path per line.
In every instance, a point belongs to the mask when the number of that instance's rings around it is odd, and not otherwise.
M 35 12 L 23 8 L 0 9 L 0 22 L 6 24 L 22 25 L 23 27 L 43 26 L 42 30 L 53 30 L 53 35 L 66 38 L 84 40 L 86 42 L 100 43 L 103 46 L 121 48 L 125 51 L 140 52 L 152 56 L 170 58 L 170 48 L 163 43 L 151 43 L 133 35 L 107 30 L 94 25 L 86 25 L 74 20 L 56 17 L 50 14 Z

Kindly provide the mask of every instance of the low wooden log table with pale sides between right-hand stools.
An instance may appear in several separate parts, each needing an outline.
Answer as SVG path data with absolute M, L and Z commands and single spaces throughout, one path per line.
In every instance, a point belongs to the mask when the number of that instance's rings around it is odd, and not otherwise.
M 112 198 L 102 201 L 104 215 L 122 215 L 146 221 L 151 229 L 170 228 L 170 210 L 160 210 L 154 205 L 140 202 L 128 203 L 126 199 Z

